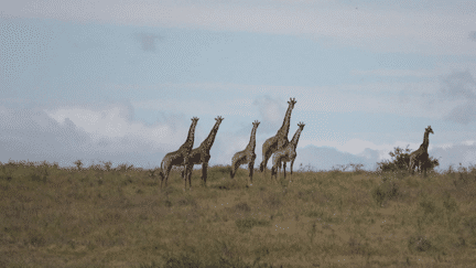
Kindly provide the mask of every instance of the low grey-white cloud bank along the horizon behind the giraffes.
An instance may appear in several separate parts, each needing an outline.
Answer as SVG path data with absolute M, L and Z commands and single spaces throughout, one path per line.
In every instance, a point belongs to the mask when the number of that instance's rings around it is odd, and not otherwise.
M 133 163 L 145 168 L 160 165 L 163 156 L 176 150 L 185 140 L 188 118 L 162 120 L 145 126 L 130 118 L 131 110 L 123 105 L 108 105 L 102 108 L 58 107 L 42 109 L 11 109 L 0 107 L 0 161 L 13 160 L 56 161 L 72 165 L 77 159 L 86 164 L 90 161 L 112 161 Z M 280 119 L 281 120 L 281 119 Z M 261 127 L 261 125 L 260 125 Z M 210 164 L 229 164 L 237 151 L 244 150 L 249 142 L 252 125 L 230 132 L 219 129 L 212 148 Z M 195 147 L 206 137 L 209 129 L 201 130 L 195 138 Z M 268 138 L 268 137 L 267 137 Z M 256 167 L 261 161 L 261 146 L 264 138 L 257 140 Z M 388 153 L 394 147 L 405 148 L 410 142 L 376 144 L 365 139 L 310 140 L 300 139 L 299 161 L 311 163 L 316 169 L 331 169 L 336 164 L 364 163 L 374 169 L 375 162 L 390 159 Z M 420 142 L 410 143 L 410 149 L 419 148 Z M 314 149 L 309 149 L 314 148 Z M 442 169 L 450 164 L 476 163 L 476 147 L 472 139 L 459 143 L 434 144 L 429 148 L 431 157 L 440 159 Z M 331 157 L 332 158 L 331 158 Z

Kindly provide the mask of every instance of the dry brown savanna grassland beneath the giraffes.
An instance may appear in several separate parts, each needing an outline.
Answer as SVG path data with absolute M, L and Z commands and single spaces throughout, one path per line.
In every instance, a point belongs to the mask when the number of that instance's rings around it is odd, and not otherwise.
M 0 267 L 474 267 L 476 169 L 428 178 L 213 167 L 183 191 L 110 163 L 0 165 Z M 281 176 L 282 179 L 282 176 Z M 289 179 L 289 178 L 288 178 Z M 249 183 L 248 183 L 249 184 Z

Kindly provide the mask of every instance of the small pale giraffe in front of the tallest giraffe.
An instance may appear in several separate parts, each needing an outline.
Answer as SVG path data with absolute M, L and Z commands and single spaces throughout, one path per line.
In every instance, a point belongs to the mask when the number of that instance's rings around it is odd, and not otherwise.
M 292 140 L 284 148 L 281 148 L 280 150 L 274 152 L 273 160 L 272 160 L 273 167 L 271 169 L 271 179 L 274 175 L 278 180 L 277 170 L 281 169 L 281 163 L 283 163 L 284 179 L 285 179 L 286 162 L 291 162 L 291 175 L 292 175 L 292 167 L 294 164 L 295 158 L 298 157 L 295 149 L 298 147 L 298 141 L 299 141 L 299 138 L 301 136 L 301 132 L 304 129 L 304 126 L 305 126 L 304 122 L 298 124 L 299 129 L 294 133 Z

